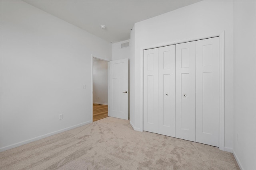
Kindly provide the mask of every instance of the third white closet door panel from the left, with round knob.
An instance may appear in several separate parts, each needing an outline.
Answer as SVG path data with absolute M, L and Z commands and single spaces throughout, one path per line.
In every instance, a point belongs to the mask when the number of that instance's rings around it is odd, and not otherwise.
M 196 42 L 176 45 L 176 137 L 196 137 Z

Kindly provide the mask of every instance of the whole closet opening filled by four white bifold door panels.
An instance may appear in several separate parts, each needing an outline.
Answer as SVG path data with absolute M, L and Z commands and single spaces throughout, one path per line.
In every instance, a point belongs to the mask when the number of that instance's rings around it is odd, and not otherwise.
M 144 50 L 143 129 L 224 150 L 224 33 Z

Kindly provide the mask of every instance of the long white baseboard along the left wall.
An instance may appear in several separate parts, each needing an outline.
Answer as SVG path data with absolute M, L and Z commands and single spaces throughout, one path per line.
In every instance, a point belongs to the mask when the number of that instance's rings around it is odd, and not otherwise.
M 32 138 L 32 139 L 28 139 L 26 141 L 22 141 L 22 142 L 18 142 L 18 143 L 15 143 L 15 144 L 12 144 L 12 145 L 8 145 L 6 147 L 2 147 L 0 148 L 0 152 L 4 151 L 4 150 L 8 150 L 8 149 L 12 149 L 12 148 L 15 148 L 15 147 L 19 147 L 21 145 L 24 145 L 24 144 L 27 144 L 27 143 L 30 143 L 30 142 L 34 142 L 34 141 L 37 141 L 39 139 L 43 139 L 45 137 L 49 137 L 49 136 L 52 136 L 52 135 L 56 135 L 58 133 L 61 133 L 61 132 L 64 132 L 64 131 L 68 131 L 70 129 L 74 129 L 76 127 L 80 127 L 80 126 L 83 126 L 83 125 L 87 125 L 89 123 L 92 123 L 92 121 L 87 121 L 87 122 L 84 122 L 84 123 L 80 123 L 78 125 L 74 125 L 74 126 L 70 126 L 70 127 L 67 127 L 67 128 L 64 128 L 64 129 L 60 129 L 58 131 L 55 131 L 55 132 L 51 132 L 51 133 L 47 133 L 45 135 L 41 135 L 41 136 L 38 136 L 38 137 L 35 137 L 35 138 Z

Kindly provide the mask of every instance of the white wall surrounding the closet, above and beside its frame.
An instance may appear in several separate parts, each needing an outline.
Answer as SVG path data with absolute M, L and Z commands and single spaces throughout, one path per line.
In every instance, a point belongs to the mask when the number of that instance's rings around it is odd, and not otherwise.
M 233 2 L 201 1 L 134 25 L 134 129 L 143 130 L 143 49 L 220 35 L 225 31 L 225 150 L 233 148 Z

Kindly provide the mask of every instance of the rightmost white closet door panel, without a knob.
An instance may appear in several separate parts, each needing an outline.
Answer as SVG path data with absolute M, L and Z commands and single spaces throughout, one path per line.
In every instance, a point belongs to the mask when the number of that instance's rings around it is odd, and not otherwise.
M 219 37 L 196 41 L 196 142 L 219 146 Z

